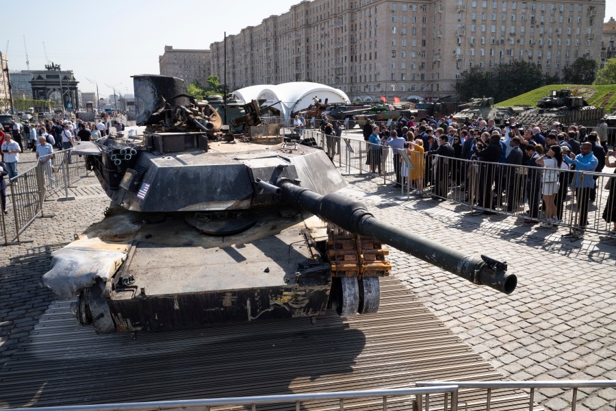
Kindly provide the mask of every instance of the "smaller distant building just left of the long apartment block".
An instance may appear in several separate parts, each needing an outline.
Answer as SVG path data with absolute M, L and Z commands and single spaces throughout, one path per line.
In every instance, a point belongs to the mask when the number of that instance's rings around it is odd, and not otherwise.
M 202 85 L 211 75 L 209 50 L 174 49 L 165 46 L 163 55 L 158 56 L 161 75 L 170 75 L 184 79 L 185 84 L 197 80 Z

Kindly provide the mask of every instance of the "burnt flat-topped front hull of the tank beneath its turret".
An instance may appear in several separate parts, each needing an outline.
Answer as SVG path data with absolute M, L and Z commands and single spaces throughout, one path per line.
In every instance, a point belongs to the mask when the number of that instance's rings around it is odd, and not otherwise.
M 80 323 L 104 334 L 326 312 L 332 275 L 321 253 L 322 221 L 299 210 L 264 209 L 251 214 L 252 227 L 221 237 L 204 236 L 194 214 L 114 208 L 68 246 L 103 251 L 112 239 L 125 245 L 120 269 L 108 279 L 92 276 L 94 284 L 81 291 Z

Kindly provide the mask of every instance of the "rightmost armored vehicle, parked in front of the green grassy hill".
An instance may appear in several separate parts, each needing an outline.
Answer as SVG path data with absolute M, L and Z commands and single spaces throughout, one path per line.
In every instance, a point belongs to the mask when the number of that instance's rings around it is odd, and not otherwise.
M 594 127 L 603 115 L 602 108 L 589 105 L 582 97 L 573 96 L 571 90 L 564 89 L 552 90 L 549 96 L 537 101 L 537 108 L 520 113 L 516 120 L 523 124 L 551 124 L 556 121 Z

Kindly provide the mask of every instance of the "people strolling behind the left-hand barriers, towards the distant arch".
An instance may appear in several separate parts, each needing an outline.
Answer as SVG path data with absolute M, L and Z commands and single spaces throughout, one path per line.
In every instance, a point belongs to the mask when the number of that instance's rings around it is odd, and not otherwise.
M 123 123 L 116 121 L 116 131 L 124 129 Z M 70 149 L 77 141 L 99 140 L 110 134 L 110 121 L 105 116 L 96 123 L 63 119 L 45 119 L 38 123 L 22 125 L 12 121 L 11 132 L 4 132 L 0 127 L 0 205 L 4 214 L 8 214 L 6 203 L 6 189 L 8 184 L 18 185 L 19 153 L 24 149 L 36 153 L 38 162 L 42 165 L 44 174 L 55 188 L 53 178 L 53 149 Z M 67 157 L 71 162 L 70 153 Z M 9 182 L 5 181 L 5 176 Z

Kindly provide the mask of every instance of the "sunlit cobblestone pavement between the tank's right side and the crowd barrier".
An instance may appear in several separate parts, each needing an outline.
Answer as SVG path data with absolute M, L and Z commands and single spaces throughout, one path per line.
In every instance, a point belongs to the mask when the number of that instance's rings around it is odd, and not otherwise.
M 506 379 L 616 379 L 616 240 L 575 242 L 508 216 L 468 216 L 432 199 L 396 201 L 381 179 L 350 176 L 374 215 L 452 249 L 506 260 L 512 295 L 478 287 L 392 250 L 394 275 Z M 548 410 L 570 409 L 572 390 L 540 390 Z M 582 389 L 577 410 L 614 410 L 616 390 Z

